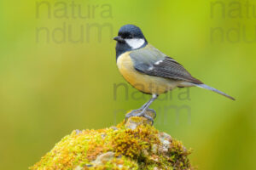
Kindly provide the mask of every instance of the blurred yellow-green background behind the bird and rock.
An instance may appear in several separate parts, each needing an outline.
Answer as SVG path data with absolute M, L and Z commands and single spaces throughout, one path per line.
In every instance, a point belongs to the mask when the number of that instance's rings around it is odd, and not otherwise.
M 112 37 L 128 23 L 193 76 L 236 98 L 189 88 L 189 99 L 181 99 L 188 91 L 176 89 L 151 106 L 155 127 L 193 148 L 199 169 L 256 169 L 256 3 L 248 1 L 249 10 L 246 1 L 218 2 L 1 1 L 0 169 L 26 169 L 74 129 L 110 127 L 125 116 L 115 111 L 143 105 L 149 96 L 133 99 L 137 91 L 115 64 Z M 124 88 L 114 98 L 119 83 L 127 84 L 128 99 Z M 191 114 L 165 114 L 169 105 Z

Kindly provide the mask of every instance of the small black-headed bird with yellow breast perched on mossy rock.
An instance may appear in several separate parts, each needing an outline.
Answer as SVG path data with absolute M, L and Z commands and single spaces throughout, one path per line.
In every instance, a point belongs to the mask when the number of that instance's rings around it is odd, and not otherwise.
M 152 98 L 141 108 L 128 113 L 125 121 L 131 116 L 144 116 L 154 123 L 153 118 L 146 114 L 148 110 L 154 111 L 148 108 L 149 105 L 160 94 L 165 94 L 174 88 L 205 88 L 235 100 L 230 95 L 192 77 L 183 65 L 148 43 L 138 26 L 131 24 L 121 26 L 118 36 L 113 37 L 113 40 L 116 41 L 116 64 L 121 75 L 132 87 L 143 94 L 152 95 Z M 156 115 L 155 111 L 154 115 Z

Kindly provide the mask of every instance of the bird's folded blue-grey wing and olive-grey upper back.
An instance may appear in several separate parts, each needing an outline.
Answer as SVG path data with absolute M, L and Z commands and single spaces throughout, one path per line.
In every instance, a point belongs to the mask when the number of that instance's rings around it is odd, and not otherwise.
M 200 80 L 192 77 L 183 65 L 151 45 L 131 52 L 130 56 L 135 69 L 144 74 L 202 84 Z

